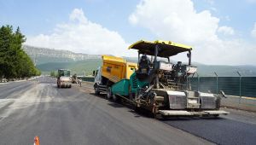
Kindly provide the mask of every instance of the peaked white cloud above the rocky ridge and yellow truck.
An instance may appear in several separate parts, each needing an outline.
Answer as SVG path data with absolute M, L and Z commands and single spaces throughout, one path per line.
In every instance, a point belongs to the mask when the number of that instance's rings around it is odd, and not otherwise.
M 69 21 L 58 24 L 49 35 L 39 34 L 27 37 L 26 44 L 54 48 L 68 49 L 73 52 L 97 55 L 129 55 L 128 44 L 119 35 L 107 28 L 91 22 L 84 16 L 82 9 L 73 9 Z

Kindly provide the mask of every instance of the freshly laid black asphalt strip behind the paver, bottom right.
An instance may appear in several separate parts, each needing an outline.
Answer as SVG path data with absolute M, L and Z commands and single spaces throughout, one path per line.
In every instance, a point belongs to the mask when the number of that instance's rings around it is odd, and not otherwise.
M 256 125 L 232 119 L 179 118 L 164 120 L 168 125 L 201 136 L 217 144 L 255 144 Z M 256 120 L 255 120 L 256 122 Z

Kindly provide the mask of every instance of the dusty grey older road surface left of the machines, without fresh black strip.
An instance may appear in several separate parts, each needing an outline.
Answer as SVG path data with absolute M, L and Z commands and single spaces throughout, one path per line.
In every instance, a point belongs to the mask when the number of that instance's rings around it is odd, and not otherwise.
M 0 98 L 0 144 L 211 144 L 51 78 L 0 84 Z

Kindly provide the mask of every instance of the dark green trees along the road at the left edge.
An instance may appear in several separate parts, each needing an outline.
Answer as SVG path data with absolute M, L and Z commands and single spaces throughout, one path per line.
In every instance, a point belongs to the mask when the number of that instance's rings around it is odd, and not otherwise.
M 25 36 L 17 27 L 1 26 L 0 28 L 0 79 L 28 78 L 38 76 L 41 72 L 35 67 L 32 59 L 21 49 L 26 42 Z

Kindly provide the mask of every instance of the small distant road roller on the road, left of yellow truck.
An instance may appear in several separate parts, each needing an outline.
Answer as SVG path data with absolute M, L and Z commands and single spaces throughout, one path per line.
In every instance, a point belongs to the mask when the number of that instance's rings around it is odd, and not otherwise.
M 71 88 L 72 78 L 70 78 L 70 70 L 59 69 L 57 74 L 58 88 Z

